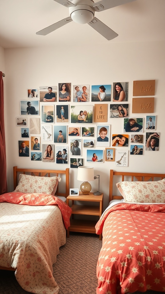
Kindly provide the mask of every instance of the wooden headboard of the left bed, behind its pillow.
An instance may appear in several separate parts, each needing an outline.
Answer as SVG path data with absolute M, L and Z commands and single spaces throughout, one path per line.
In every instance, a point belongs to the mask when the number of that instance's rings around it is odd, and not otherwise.
M 69 195 L 69 168 L 66 168 L 63 171 L 59 170 L 46 170 L 46 169 L 28 169 L 28 168 L 17 168 L 17 166 L 13 167 L 13 178 L 14 178 L 14 190 L 18 185 L 19 174 L 28 174 L 31 176 L 53 176 L 53 177 L 60 177 L 61 181 L 57 186 L 56 195 L 57 196 L 64 196 L 65 198 Z M 65 183 L 65 185 L 63 184 Z M 62 186 L 63 192 L 59 192 L 59 186 Z

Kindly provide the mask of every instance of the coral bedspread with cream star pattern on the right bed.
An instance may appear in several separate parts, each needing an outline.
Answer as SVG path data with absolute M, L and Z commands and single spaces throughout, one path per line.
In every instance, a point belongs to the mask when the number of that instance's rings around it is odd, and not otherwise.
M 96 224 L 103 235 L 97 294 L 165 292 L 165 204 L 116 204 Z

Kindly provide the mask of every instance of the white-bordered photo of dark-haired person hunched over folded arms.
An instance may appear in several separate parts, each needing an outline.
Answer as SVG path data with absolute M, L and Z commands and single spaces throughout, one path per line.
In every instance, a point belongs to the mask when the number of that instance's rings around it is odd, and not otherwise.
M 143 118 L 124 118 L 124 132 L 143 132 Z

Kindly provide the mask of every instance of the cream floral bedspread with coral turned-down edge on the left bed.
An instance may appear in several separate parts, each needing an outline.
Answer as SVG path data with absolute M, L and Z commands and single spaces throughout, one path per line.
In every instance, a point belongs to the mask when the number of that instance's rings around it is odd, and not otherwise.
M 5 201 L 5 197 L 6 202 L 10 197 L 15 198 L 6 193 L 0 196 L 0 202 Z M 0 265 L 15 268 L 18 283 L 31 293 L 55 294 L 59 289 L 52 265 L 59 247 L 66 243 L 65 226 L 69 225 L 71 209 L 53 197 L 56 205 L 0 203 Z M 51 195 L 50 198 L 53 204 Z

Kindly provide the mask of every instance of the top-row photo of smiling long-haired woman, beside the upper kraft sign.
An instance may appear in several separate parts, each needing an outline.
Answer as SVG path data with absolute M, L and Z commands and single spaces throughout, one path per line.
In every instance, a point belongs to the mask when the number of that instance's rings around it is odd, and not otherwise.
M 128 82 L 113 83 L 113 102 L 128 101 Z

